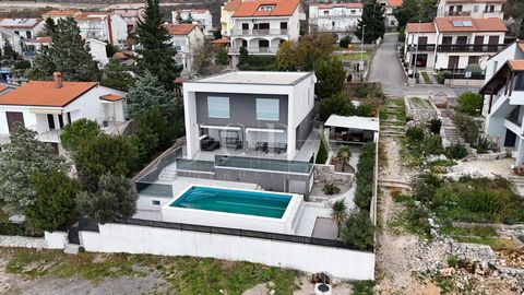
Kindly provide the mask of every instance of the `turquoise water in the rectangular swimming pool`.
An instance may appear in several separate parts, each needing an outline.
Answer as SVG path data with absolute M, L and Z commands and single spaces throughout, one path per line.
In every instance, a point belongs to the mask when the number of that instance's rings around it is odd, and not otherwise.
M 290 194 L 193 186 L 170 206 L 281 219 Z

